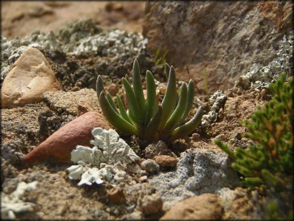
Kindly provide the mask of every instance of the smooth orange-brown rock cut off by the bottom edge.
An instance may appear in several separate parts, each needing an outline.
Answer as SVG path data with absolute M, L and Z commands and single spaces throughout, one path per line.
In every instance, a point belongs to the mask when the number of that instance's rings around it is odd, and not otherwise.
M 218 196 L 205 193 L 174 204 L 160 220 L 220 220 L 223 213 Z

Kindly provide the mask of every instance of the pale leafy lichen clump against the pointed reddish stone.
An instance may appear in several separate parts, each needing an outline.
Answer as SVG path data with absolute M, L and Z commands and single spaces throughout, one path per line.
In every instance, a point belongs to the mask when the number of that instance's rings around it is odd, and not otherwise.
M 113 186 L 125 181 L 127 172 L 141 173 L 136 161 L 141 161 L 135 152 L 113 129 L 104 130 L 100 127 L 92 130 L 94 140 L 88 146 L 76 146 L 71 152 L 73 165 L 66 170 L 69 179 L 81 179 L 78 185 L 92 183 L 102 184 L 108 181 Z M 133 165 L 132 165 L 133 164 Z

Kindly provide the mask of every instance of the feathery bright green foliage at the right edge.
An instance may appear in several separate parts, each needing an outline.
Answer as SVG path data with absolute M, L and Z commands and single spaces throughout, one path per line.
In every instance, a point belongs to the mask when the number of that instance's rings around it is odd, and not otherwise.
M 245 175 L 247 186 L 274 187 L 282 191 L 293 179 L 293 79 L 285 83 L 285 73 L 275 84 L 269 85 L 274 97 L 250 115 L 252 122 L 244 121 L 249 133 L 245 138 L 255 141 L 247 149 L 215 143 L 235 159 L 232 167 Z

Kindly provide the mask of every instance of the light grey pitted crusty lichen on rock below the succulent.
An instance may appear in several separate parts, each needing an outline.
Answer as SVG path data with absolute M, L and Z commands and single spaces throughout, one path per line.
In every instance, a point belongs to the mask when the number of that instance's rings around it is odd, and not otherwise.
M 160 172 L 149 177 L 148 182 L 161 195 L 164 207 L 170 207 L 188 197 L 202 193 L 218 194 L 225 187 L 240 184 L 225 153 L 207 149 L 188 149 L 181 153 L 175 171 Z

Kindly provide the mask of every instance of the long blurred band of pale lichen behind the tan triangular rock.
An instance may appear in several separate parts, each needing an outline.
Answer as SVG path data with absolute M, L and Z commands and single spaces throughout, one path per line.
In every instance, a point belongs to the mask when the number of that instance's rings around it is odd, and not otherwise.
M 1 36 L 1 80 L 11 70 L 11 65 L 29 47 L 39 50 L 59 49 L 65 53 L 98 50 L 110 57 L 123 56 L 131 52 L 141 52 L 148 40 L 141 33 L 126 32 L 115 28 L 102 28 L 91 19 L 69 23 L 54 32 L 35 31 L 31 37 L 16 37 L 8 41 Z

